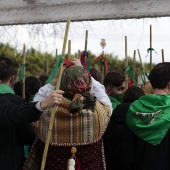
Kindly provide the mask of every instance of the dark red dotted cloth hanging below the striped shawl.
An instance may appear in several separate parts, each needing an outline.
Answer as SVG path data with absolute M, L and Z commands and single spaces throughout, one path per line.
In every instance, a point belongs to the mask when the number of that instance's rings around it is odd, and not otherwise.
M 79 170 L 103 170 L 102 161 L 102 140 L 96 143 L 76 146 L 75 156 L 78 158 L 77 165 L 81 165 Z M 36 157 L 39 157 L 40 163 L 44 151 L 44 143 L 38 139 Z M 45 168 L 47 170 L 66 170 L 67 161 L 71 157 L 71 146 L 49 146 Z M 78 163 L 80 162 L 80 164 Z M 40 165 L 37 165 L 40 167 Z M 79 166 L 80 168 L 80 166 Z M 78 170 L 78 169 L 77 169 Z

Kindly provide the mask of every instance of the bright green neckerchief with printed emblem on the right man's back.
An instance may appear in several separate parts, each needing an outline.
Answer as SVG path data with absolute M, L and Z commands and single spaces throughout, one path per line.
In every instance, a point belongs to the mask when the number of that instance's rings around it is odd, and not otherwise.
M 170 95 L 140 97 L 131 104 L 126 123 L 139 138 L 159 144 L 170 127 Z

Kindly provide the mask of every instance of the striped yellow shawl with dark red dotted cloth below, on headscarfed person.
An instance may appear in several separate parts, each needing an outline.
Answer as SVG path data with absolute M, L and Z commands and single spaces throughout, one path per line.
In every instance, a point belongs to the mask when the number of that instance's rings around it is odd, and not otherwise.
M 70 114 L 69 104 L 70 101 L 63 98 L 55 114 L 45 169 L 66 170 L 71 147 L 75 146 L 81 170 L 106 170 L 102 136 L 110 119 L 110 108 L 97 101 L 94 112 L 82 110 Z M 50 115 L 51 110 L 46 110 L 40 120 L 34 122 L 37 139 L 23 170 L 40 170 Z

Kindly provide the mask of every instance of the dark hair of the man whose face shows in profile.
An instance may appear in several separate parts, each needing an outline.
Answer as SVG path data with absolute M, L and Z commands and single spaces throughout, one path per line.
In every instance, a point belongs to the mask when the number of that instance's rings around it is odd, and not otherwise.
M 105 87 L 107 86 L 119 87 L 123 84 L 124 81 L 125 81 L 124 75 L 122 75 L 119 72 L 112 71 L 106 74 L 103 84 Z

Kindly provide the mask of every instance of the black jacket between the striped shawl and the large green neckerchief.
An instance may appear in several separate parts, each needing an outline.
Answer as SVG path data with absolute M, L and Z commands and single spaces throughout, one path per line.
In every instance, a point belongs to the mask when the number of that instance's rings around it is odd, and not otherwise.
M 112 113 L 109 125 L 103 136 L 107 170 L 131 170 L 125 165 L 124 144 L 128 139 L 125 118 L 130 103 L 118 105 Z M 131 158 L 130 158 L 131 159 Z

